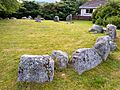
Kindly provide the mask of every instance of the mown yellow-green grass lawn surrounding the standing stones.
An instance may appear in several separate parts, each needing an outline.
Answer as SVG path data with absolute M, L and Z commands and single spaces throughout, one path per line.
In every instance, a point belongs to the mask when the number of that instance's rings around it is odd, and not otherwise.
M 104 34 L 90 34 L 90 21 L 65 22 L 30 20 L 0 21 L 0 90 L 120 90 L 120 31 L 116 43 L 106 62 L 78 75 L 68 66 L 55 69 L 50 83 L 17 82 L 18 65 L 23 54 L 51 54 L 63 50 L 71 57 L 78 48 L 92 47 L 96 39 Z M 63 75 L 65 74 L 65 75 Z

